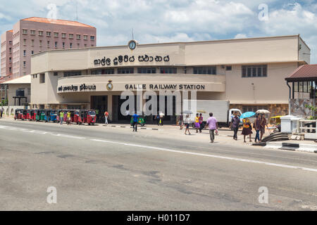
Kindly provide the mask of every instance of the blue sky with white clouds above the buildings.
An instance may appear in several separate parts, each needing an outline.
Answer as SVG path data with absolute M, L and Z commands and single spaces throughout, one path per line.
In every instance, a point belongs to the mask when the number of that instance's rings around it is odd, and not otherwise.
M 56 16 L 96 27 L 97 46 L 128 44 L 132 30 L 139 44 L 300 34 L 317 63 L 317 0 L 0 0 L 0 6 L 1 33 L 22 18 Z

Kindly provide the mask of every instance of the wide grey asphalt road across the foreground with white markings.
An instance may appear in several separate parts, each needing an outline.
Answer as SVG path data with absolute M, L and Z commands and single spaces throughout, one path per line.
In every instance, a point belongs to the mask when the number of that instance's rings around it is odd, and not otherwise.
M 317 210 L 317 154 L 169 132 L 0 120 L 0 210 Z

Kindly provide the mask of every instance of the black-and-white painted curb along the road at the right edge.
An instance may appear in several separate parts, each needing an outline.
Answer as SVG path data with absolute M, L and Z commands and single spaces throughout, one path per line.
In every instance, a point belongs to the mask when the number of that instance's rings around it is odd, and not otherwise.
M 286 142 L 262 142 L 252 146 L 263 146 L 263 148 L 273 148 L 281 150 L 296 150 L 307 153 L 317 153 L 317 145 L 304 143 L 286 143 Z

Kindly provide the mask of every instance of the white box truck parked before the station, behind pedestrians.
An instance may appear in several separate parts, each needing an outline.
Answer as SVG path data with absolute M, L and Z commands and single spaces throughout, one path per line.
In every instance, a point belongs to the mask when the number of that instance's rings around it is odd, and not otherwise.
M 237 112 L 239 116 L 242 115 L 241 110 L 235 108 L 230 109 L 229 101 L 187 100 L 183 101 L 183 105 L 184 103 L 188 104 L 189 111 L 192 112 L 189 116 L 193 127 L 196 113 L 202 113 L 202 116 L 204 117 L 204 126 L 206 125 L 206 120 L 209 118 L 209 113 L 213 113 L 213 117 L 216 117 L 219 127 L 229 127 L 232 117 L 235 116 L 235 112 Z M 196 109 L 194 107 L 195 103 Z M 183 113 L 184 118 L 186 117 L 186 114 L 187 113 Z

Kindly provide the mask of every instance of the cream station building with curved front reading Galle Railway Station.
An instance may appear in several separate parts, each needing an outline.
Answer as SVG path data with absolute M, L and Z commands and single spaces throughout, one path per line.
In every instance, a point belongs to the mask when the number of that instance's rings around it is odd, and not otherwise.
M 310 49 L 299 35 L 51 50 L 31 59 L 31 108 L 82 108 L 120 115 L 123 91 L 196 91 L 198 100 L 287 115 L 285 82 Z M 189 97 L 190 98 L 190 97 Z M 174 116 L 168 118 L 171 122 Z

